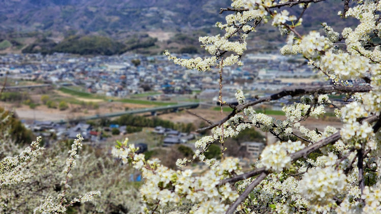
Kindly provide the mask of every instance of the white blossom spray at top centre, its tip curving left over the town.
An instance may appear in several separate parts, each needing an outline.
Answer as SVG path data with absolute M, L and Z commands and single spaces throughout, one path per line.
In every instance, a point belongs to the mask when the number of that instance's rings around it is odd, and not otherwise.
M 180 64 L 189 69 L 198 69 L 201 72 L 210 70 L 212 66 L 216 66 L 217 64 L 219 64 L 217 63 L 217 57 L 219 57 L 220 53 L 226 51 L 231 51 L 235 54 L 232 54 L 231 56 L 224 58 L 222 66 L 233 65 L 235 63 L 237 63 L 238 65 L 242 65 L 242 62 L 240 61 L 240 56 L 243 54 L 243 51 L 246 50 L 245 40 L 247 38 L 247 33 L 255 30 L 255 27 L 251 26 L 249 22 L 253 19 L 265 18 L 265 16 L 267 15 L 265 7 L 270 7 L 272 5 L 275 5 L 275 3 L 273 3 L 270 0 L 255 2 L 241 0 L 233 1 L 233 8 L 242 8 L 247 6 L 249 8 L 252 8 L 253 10 L 242 11 L 235 14 L 227 15 L 226 24 L 217 22 L 217 27 L 226 30 L 226 33 L 223 37 L 220 37 L 220 35 L 218 34 L 213 37 L 199 38 L 199 42 L 202 43 L 202 46 L 205 47 L 205 50 L 207 50 L 212 55 L 212 57 L 205 59 L 202 59 L 200 57 L 197 57 L 195 59 L 178 59 L 177 57 L 172 56 L 168 51 L 165 51 L 164 54 L 168 56 L 169 60 L 173 60 L 176 64 Z M 279 19 L 280 21 L 281 19 L 296 19 L 294 16 L 286 16 L 285 14 L 287 13 L 287 11 L 284 11 L 282 12 L 282 15 L 276 17 L 278 17 L 277 19 Z M 240 40 L 229 41 L 230 38 L 232 38 L 235 35 L 238 35 L 238 32 L 240 32 Z

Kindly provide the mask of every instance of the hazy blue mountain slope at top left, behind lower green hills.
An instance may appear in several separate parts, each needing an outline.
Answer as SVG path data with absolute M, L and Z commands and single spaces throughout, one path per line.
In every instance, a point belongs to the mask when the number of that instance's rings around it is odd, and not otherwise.
M 214 25 L 229 0 L 0 0 L 3 31 L 86 32 Z

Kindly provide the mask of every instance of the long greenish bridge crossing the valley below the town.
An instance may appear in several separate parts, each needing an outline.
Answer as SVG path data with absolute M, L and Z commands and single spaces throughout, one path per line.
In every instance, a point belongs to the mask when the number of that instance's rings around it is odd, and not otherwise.
M 102 115 L 93 115 L 93 116 L 86 116 L 86 117 L 80 117 L 76 119 L 68 119 L 68 120 L 59 120 L 54 121 L 55 123 L 68 123 L 72 121 L 86 121 L 86 120 L 96 120 L 101 118 L 112 118 L 112 117 L 119 117 L 122 115 L 133 115 L 133 114 L 141 114 L 141 113 L 151 113 L 151 115 L 155 116 L 157 112 L 164 112 L 168 110 L 172 110 L 173 112 L 178 112 L 180 110 L 184 109 L 195 109 L 199 106 L 200 103 L 198 102 L 191 102 L 191 103 L 184 103 L 184 104 L 176 104 L 176 105 L 167 105 L 167 106 L 160 106 L 160 107 L 154 107 L 154 108 L 146 108 L 146 109 L 136 109 L 136 110 L 130 110 L 130 111 L 124 111 L 124 112 L 116 112 L 116 113 L 109 113 L 109 114 L 102 114 Z

